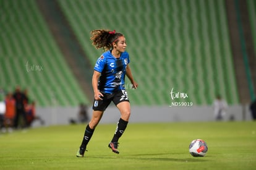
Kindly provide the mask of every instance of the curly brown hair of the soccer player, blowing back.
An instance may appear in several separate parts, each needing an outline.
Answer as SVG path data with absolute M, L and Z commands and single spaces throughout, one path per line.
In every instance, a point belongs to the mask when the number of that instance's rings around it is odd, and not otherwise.
M 90 40 L 92 40 L 92 45 L 96 49 L 103 48 L 105 51 L 113 48 L 113 43 L 118 42 L 119 36 L 124 36 L 122 33 L 116 33 L 114 30 L 92 30 Z

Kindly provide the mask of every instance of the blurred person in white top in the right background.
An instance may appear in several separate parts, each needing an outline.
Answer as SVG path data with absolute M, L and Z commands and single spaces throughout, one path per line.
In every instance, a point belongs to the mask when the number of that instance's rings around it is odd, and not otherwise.
M 221 98 L 220 95 L 217 95 L 215 101 L 213 102 L 213 114 L 216 121 L 223 120 L 223 117 L 226 115 L 226 109 L 228 109 L 228 104 Z

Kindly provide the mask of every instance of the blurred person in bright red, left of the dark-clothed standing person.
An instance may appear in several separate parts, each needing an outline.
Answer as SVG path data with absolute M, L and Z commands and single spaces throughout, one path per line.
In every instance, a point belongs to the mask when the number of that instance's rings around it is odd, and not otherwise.
M 6 127 L 6 130 L 12 131 L 11 128 L 14 125 L 15 117 L 15 100 L 11 93 L 7 93 L 5 103 L 6 113 L 4 114 L 4 126 Z

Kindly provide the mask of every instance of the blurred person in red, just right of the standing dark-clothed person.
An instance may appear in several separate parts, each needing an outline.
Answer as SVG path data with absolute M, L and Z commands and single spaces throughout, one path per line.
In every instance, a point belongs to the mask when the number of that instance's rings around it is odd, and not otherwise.
M 31 127 L 33 121 L 40 121 L 41 125 L 45 124 L 45 121 L 41 119 L 41 117 L 36 116 L 36 109 L 35 109 L 35 101 L 32 101 L 31 104 L 27 104 L 25 107 L 25 113 L 27 118 L 27 127 Z

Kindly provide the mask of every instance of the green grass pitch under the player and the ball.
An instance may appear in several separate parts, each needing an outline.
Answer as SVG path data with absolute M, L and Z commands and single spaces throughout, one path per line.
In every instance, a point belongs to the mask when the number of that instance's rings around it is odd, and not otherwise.
M 108 148 L 116 124 L 99 124 L 84 158 L 75 154 L 85 125 L 59 125 L 0 134 L 0 169 L 256 169 L 256 122 L 130 123 Z M 189 143 L 207 142 L 194 158 Z

